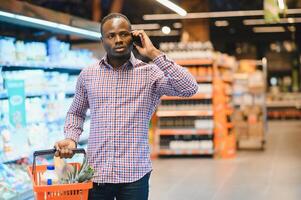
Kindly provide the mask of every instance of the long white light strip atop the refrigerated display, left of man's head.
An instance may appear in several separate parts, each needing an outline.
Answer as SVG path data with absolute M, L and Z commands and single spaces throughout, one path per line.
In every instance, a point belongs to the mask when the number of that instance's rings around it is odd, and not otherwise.
M 82 28 L 77 28 L 74 26 L 69 26 L 65 24 L 59 24 L 56 22 L 51 22 L 43 19 L 27 17 L 23 15 L 17 15 L 9 12 L 0 11 L 0 21 L 5 19 L 10 19 L 12 23 L 20 24 L 20 22 L 27 22 L 28 26 L 44 28 L 54 32 L 64 32 L 67 34 L 80 35 L 91 39 L 99 40 L 101 38 L 101 33 L 96 31 L 90 31 Z

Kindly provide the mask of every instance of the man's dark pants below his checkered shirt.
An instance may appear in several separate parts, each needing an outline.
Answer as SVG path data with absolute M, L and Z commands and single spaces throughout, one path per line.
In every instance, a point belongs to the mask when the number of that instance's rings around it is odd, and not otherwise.
M 132 183 L 93 183 L 89 200 L 147 200 L 150 173 Z

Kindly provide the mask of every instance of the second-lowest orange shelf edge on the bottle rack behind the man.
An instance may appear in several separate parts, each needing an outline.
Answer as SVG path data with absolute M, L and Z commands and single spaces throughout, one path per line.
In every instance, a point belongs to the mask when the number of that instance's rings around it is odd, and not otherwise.
M 159 129 L 159 135 L 213 135 L 213 130 L 202 129 Z

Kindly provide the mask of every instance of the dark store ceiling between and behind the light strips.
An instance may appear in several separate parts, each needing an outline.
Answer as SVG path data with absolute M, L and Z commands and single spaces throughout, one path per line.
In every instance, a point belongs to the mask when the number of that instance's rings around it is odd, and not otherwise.
M 79 16 L 86 19 L 92 19 L 92 4 L 93 0 L 23 0 L 35 5 L 53 9 L 56 11 L 61 11 L 64 13 L 69 13 L 75 16 Z M 189 1 L 189 0 L 186 0 Z M 200 0 L 206 1 L 206 0 Z M 110 6 L 113 0 L 101 0 L 102 15 L 106 15 L 110 12 Z M 181 0 L 173 0 L 177 4 L 183 3 Z M 209 11 L 237 11 L 237 10 L 260 10 L 263 8 L 263 0 L 207 0 L 209 3 Z M 286 0 L 287 6 L 289 9 L 292 8 L 301 8 L 301 0 Z M 80 9 L 79 9 L 80 8 Z M 187 12 L 201 12 L 198 8 L 187 10 Z M 122 13 L 129 17 L 133 24 L 141 23 L 152 23 L 152 21 L 144 21 L 142 16 L 144 14 L 167 14 L 173 13 L 169 9 L 163 7 L 161 4 L 155 0 L 123 0 Z M 301 13 L 295 16 L 301 17 Z M 235 43 L 246 41 L 246 38 L 250 42 L 262 42 L 269 40 L 292 40 L 298 39 L 298 34 L 301 29 L 301 23 L 294 24 L 295 33 L 289 31 L 288 24 L 283 24 L 285 32 L 283 33 L 254 33 L 254 26 L 246 26 L 243 24 L 244 19 L 256 18 L 259 17 L 235 17 L 235 18 L 219 18 L 210 19 L 210 38 L 215 41 L 218 48 L 222 48 L 221 44 L 225 43 Z M 228 26 L 226 27 L 217 27 L 216 21 L 226 20 Z M 162 20 L 156 21 L 163 25 L 171 25 L 174 22 L 181 22 L 181 20 Z M 263 25 L 264 26 L 264 25 Z M 295 35 L 295 36 L 294 36 Z M 301 34 L 299 34 L 301 35 Z M 271 37 L 272 36 L 272 37 Z M 178 37 L 162 37 L 155 38 L 157 42 L 162 41 L 174 41 L 179 40 Z M 223 48 L 225 45 L 223 45 Z

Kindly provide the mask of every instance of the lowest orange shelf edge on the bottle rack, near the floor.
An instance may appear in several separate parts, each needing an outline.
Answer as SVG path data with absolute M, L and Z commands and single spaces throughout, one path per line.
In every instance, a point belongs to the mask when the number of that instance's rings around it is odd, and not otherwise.
M 213 155 L 213 149 L 195 149 L 195 150 L 173 150 L 160 149 L 159 155 Z

